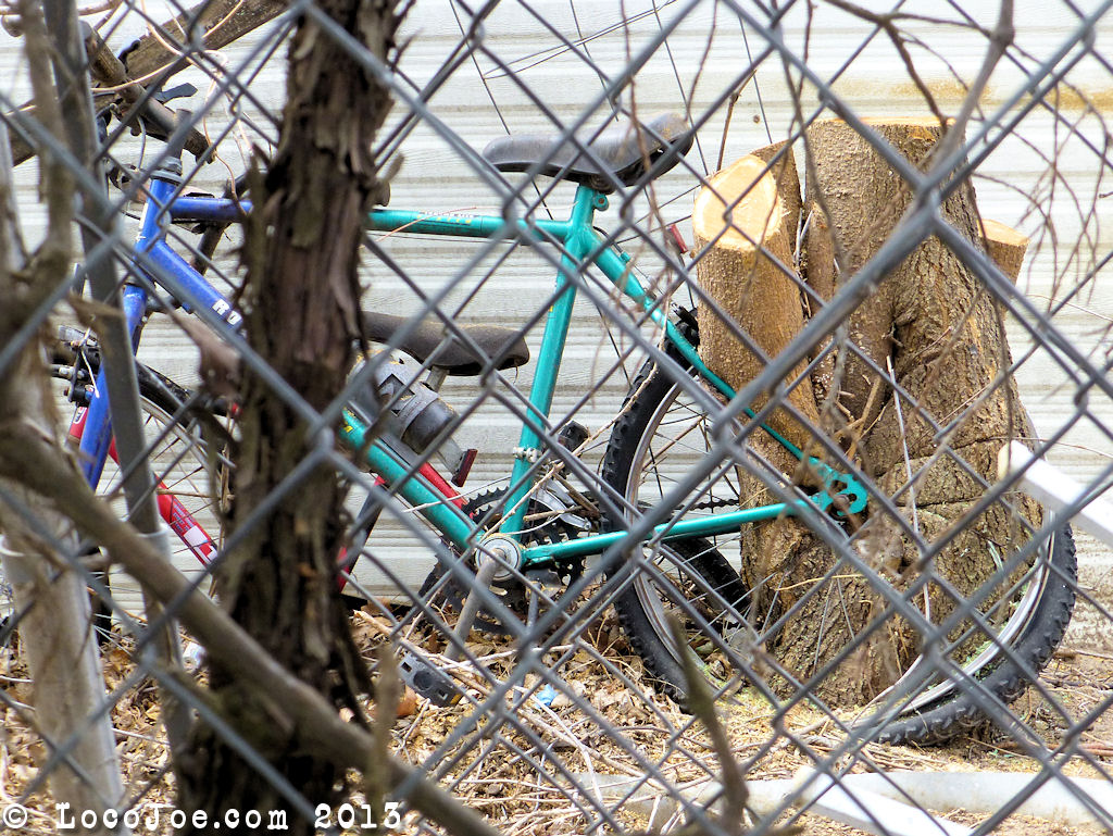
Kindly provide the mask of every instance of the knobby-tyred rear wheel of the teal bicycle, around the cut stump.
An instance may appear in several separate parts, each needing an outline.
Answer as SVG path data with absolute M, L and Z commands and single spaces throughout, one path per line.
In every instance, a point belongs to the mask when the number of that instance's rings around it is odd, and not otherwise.
M 691 374 L 691 370 L 689 370 Z M 689 384 L 690 386 L 690 384 Z M 603 479 L 628 503 L 627 520 L 610 520 L 622 528 L 641 510 L 657 508 L 709 454 L 711 419 L 680 383 L 654 364 L 640 373 L 615 424 L 603 461 Z M 717 468 L 676 504 L 673 514 L 697 514 L 738 506 L 738 481 L 730 463 Z M 740 534 L 713 540 L 681 540 L 644 547 L 634 559 L 642 562 L 626 592 L 615 601 L 623 629 L 661 688 L 677 697 L 686 689 L 679 652 L 669 632 L 670 614 L 678 614 L 709 679 L 722 683 L 745 678 L 755 660 L 755 648 L 771 638 L 777 624 L 761 623 L 750 601 L 769 600 L 777 589 L 748 590 L 737 571 Z M 710 555 L 713 555 L 710 557 Z M 899 694 L 915 687 L 890 706 L 867 708 L 858 724 L 881 727 L 888 742 L 938 742 L 963 728 L 984 724 L 993 700 L 1009 702 L 1028 687 L 1046 665 L 1066 630 L 1074 604 L 1076 564 L 1074 543 L 1064 528 L 1044 543 L 1020 580 L 1011 579 L 1007 593 L 992 597 L 983 608 L 982 627 L 966 628 L 959 638 L 948 636 L 940 650 L 962 670 L 934 673 L 919 682 L 923 670 L 915 660 L 899 671 Z M 823 579 L 817 580 L 823 583 Z M 827 581 L 820 594 L 838 594 Z M 760 592 L 759 594 L 756 594 Z M 925 612 L 932 620 L 930 612 Z M 938 613 L 936 613 L 938 614 Z M 987 632 L 989 631 L 989 632 Z M 972 647 L 975 646 L 976 647 Z M 916 657 L 917 659 L 919 657 Z M 968 677 L 981 688 L 956 683 Z M 875 705 L 884 702 L 883 694 Z

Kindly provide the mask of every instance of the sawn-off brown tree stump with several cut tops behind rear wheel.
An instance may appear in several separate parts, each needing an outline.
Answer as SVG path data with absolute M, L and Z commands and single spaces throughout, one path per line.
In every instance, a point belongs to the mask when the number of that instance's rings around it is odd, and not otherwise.
M 937 121 L 888 120 L 873 127 L 919 168 L 926 168 L 942 137 Z M 869 142 L 843 121 L 812 125 L 807 148 L 810 222 L 801 263 L 808 285 L 821 298 L 830 298 L 840 278 L 836 254 L 846 275 L 865 264 L 893 233 L 908 208 L 912 190 Z M 769 207 L 791 200 L 797 185 L 782 183 L 781 191 L 788 197 L 770 198 L 766 187 L 747 191 L 761 169 L 747 164 L 746 171 L 722 198 L 728 203 L 741 199 L 733 212 L 736 224 L 743 226 L 737 237 L 766 239 L 767 230 L 775 227 L 768 219 L 776 217 Z M 758 183 L 771 179 L 766 175 Z M 720 181 L 719 176 L 712 179 L 712 184 Z M 707 198 L 698 198 L 697 207 L 700 199 Z M 983 242 L 968 183 L 953 193 L 942 214 L 969 240 Z M 1007 237 L 998 232 L 987 229 L 991 246 Z M 1012 249 L 1003 252 L 1013 257 L 1018 269 L 1023 249 L 1017 256 L 1013 243 Z M 751 269 L 736 268 L 735 275 L 736 282 L 741 277 L 752 284 Z M 706 286 L 718 299 L 725 284 L 718 279 Z M 739 319 L 745 326 L 760 323 L 761 333 L 781 328 L 786 342 L 801 327 L 806 311 L 786 311 L 787 298 L 766 294 L 750 304 L 755 302 L 758 308 L 748 314 L 749 319 Z M 764 323 L 762 318 L 778 324 Z M 825 406 L 823 423 L 815 421 L 814 432 L 828 433 L 856 459 L 869 479 L 894 496 L 924 542 L 951 537 L 951 525 L 984 494 L 982 482 L 961 462 L 993 482 L 1001 445 L 1013 437 L 1032 437 L 1015 385 L 1011 378 L 998 380 L 1011 360 L 993 298 L 981 291 L 971 271 L 932 237 L 884 278 L 877 293 L 850 316 L 847 331 L 849 344 L 840 345 L 837 360 L 820 365 L 811 376 L 811 391 Z M 737 363 L 736 355 L 719 348 L 719 335 L 701 331 L 700 337 L 712 370 Z M 765 345 L 772 353 L 772 345 Z M 880 374 L 873 371 L 870 362 Z M 906 396 L 894 395 L 888 382 L 890 368 L 892 380 Z M 802 386 L 796 390 L 802 391 Z M 944 441 L 952 453 L 933 461 L 939 446 L 935 437 L 938 427 L 953 421 Z M 759 453 L 784 462 L 784 453 L 768 436 L 757 434 L 751 442 Z M 742 479 L 741 496 L 743 505 L 776 501 L 755 476 Z M 1038 505 L 1023 498 L 1011 500 L 1022 517 L 1038 522 Z M 897 589 L 907 587 L 918 571 L 918 548 L 899 533 L 894 520 L 879 512 L 876 502 L 870 503 L 866 518 L 866 529 L 855 547 L 859 555 Z M 1013 513 L 1003 506 L 992 508 L 953 537 L 932 570 L 962 596 L 968 596 L 996 570 L 994 549 L 1007 553 L 1023 541 L 1021 531 Z M 766 640 L 766 649 L 794 677 L 807 679 L 846 647 L 859 642 L 851 663 L 815 685 L 817 696 L 831 704 L 864 702 L 888 687 L 919 653 L 918 637 L 899 619 L 889 619 L 867 639 L 856 639 L 883 611 L 884 599 L 874 583 L 845 564 L 837 568 L 835 579 L 817 582 L 835 567 L 835 558 L 800 522 L 774 520 L 746 527 L 742 534 L 742 576 L 754 590 L 754 611 L 768 626 L 794 606 L 798 608 Z M 930 587 L 929 596 L 930 619 L 938 622 L 953 610 L 954 601 L 937 586 Z M 778 687 L 790 690 L 785 682 Z

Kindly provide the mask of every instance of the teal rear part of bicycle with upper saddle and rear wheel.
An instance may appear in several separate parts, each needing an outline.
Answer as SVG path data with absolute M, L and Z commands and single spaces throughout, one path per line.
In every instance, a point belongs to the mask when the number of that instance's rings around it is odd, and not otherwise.
M 762 520 L 808 514 L 814 525 L 827 525 L 835 532 L 829 535 L 846 537 L 840 525 L 853 517 L 860 518 L 869 499 L 866 486 L 851 473 L 807 455 L 765 423 L 759 431 L 804 462 L 811 483 L 821 485 L 819 490 L 812 489 L 810 495 L 797 490 L 797 499 L 739 510 L 733 471 L 745 462 L 746 454 L 740 451 L 738 458 L 706 478 L 691 479 L 695 466 L 712 453 L 716 439 L 743 432 L 739 421 L 726 421 L 719 414 L 736 393 L 700 357 L 698 328 L 690 312 L 667 309 L 639 282 L 628 257 L 594 228 L 595 214 L 608 208 L 609 191 L 620 184 L 633 189 L 644 186 L 674 166 L 690 144 L 683 121 L 662 116 L 640 131 L 629 125 L 613 128 L 588 145 L 590 154 L 559 137 L 508 137 L 487 146 L 483 156 L 502 171 L 529 171 L 577 183 L 575 203 L 567 220 L 508 223 L 501 217 L 429 217 L 395 209 L 371 216 L 374 230 L 534 240 L 558 247 L 561 269 L 555 302 L 544 323 L 513 472 L 498 503 L 487 498 L 461 512 L 459 505 L 445 501 L 440 489 L 414 473 L 406 460 L 394 455 L 390 445 L 372 446 L 368 462 L 411 505 L 422 509 L 456 553 L 476 555 L 480 587 L 503 580 L 508 603 L 520 602 L 515 590 L 536 587 L 539 579 L 551 581 L 554 573 L 567 583 L 577 577 L 584 558 L 619 548 L 626 560 L 634 555 L 643 569 L 636 571 L 618 594 L 615 609 L 650 673 L 678 696 L 684 682 L 670 632 L 671 612 L 700 637 L 691 643 L 702 648 L 705 670 L 712 678 L 718 671 L 720 681 L 723 672 L 729 678 L 739 665 L 749 665 L 752 648 L 761 641 L 759 617 L 748 609 L 751 590 L 745 588 L 732 562 L 737 561 L 740 529 Z M 659 328 L 663 356 L 646 363 L 612 426 L 601 465 L 602 490 L 590 494 L 590 500 L 574 491 L 554 499 L 556 491 L 545 489 L 551 480 L 546 482 L 544 474 L 561 470 L 563 464 L 552 465 L 562 460 L 570 465 L 567 460 L 575 443 L 568 443 L 565 427 L 550 426 L 548 420 L 572 322 L 575 277 L 588 265 L 598 268 Z M 387 332 L 380 330 L 385 341 L 390 340 Z M 508 348 L 512 336 L 499 336 L 493 343 L 489 337 L 485 356 L 516 364 L 521 353 Z M 434 334 L 426 346 L 439 343 Z M 436 368 L 436 361 L 420 346 L 411 353 Z M 742 416 L 750 421 L 757 417 L 749 409 Z M 348 414 L 344 433 L 356 449 L 367 445 L 367 426 L 356 414 Z M 556 444 L 551 441 L 554 437 Z M 572 433 L 572 437 L 582 434 Z M 452 455 L 456 461 L 456 453 Z M 781 484 L 785 491 L 796 490 L 787 476 Z M 580 502 L 570 501 L 571 496 Z M 659 522 L 639 529 L 647 514 Z M 601 530 L 588 524 L 592 519 L 599 520 Z M 639 532 L 637 538 L 631 531 Z M 1061 640 L 1074 601 L 1073 553 L 1070 532 L 1057 532 L 1033 562 L 1027 578 L 993 604 L 987 621 L 993 623 L 996 638 L 977 642 L 976 650 L 968 649 L 968 633 L 953 641 L 956 656 L 962 653 L 957 662 L 962 670 L 997 698 L 1015 699 L 1031 681 L 1031 671 L 1042 669 Z M 436 578 L 434 572 L 426 592 Z M 449 581 L 442 578 L 441 582 Z M 498 588 L 498 582 L 494 586 Z M 457 600 L 462 598 L 463 590 Z M 461 609 L 470 626 L 476 608 Z M 967 649 L 955 649 L 964 643 Z M 712 658 L 718 662 L 712 663 Z M 906 675 L 895 689 L 923 671 L 914 662 Z M 983 707 L 957 687 L 961 676 L 937 677 L 938 681 L 918 688 L 915 698 L 892 712 L 883 739 L 943 739 L 975 722 Z

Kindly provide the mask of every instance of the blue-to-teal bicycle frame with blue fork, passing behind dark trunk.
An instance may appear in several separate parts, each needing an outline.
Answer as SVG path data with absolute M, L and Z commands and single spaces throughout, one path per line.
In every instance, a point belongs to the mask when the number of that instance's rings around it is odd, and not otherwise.
M 137 268 L 156 283 L 159 283 L 159 273 L 168 273 L 178 286 L 166 288 L 165 282 L 160 284 L 165 289 L 170 291 L 185 309 L 208 307 L 227 323 L 229 328 L 236 328 L 242 322 L 239 313 L 204 276 L 166 243 L 165 230 L 167 225 L 173 222 L 233 223 L 242 220 L 250 206 L 247 203 L 237 203 L 226 198 L 176 196 L 176 190 L 177 183 L 173 176 L 156 174 L 152 177 L 136 240 L 136 252 L 142 256 L 137 260 Z M 666 338 L 676 346 L 680 355 L 691 364 L 702 380 L 727 399 L 735 395 L 733 390 L 707 367 L 692 344 L 669 321 L 658 301 L 646 292 L 629 268 L 628 258 L 614 247 L 608 246 L 594 230 L 594 214 L 597 210 L 605 209 L 607 205 L 604 194 L 587 186 L 579 186 L 575 203 L 568 220 L 539 219 L 509 224 L 496 216 L 430 216 L 424 213 L 395 209 L 376 209 L 370 216 L 370 228 L 377 232 L 506 240 L 525 238 L 529 243 L 552 243 L 561 248 L 561 268 L 556 276 L 555 303 L 545 318 L 541 346 L 538 352 L 536 373 L 529 395 L 531 421 L 523 422 L 519 444 L 523 452 L 515 460 L 511 473 L 506 506 L 512 510 L 500 524 L 502 537 L 516 538 L 516 532 L 523 528 L 526 509 L 524 500 L 533 488 L 531 479 L 533 465 L 531 462 L 535 460 L 535 456 L 530 455 L 530 451 L 535 451 L 539 455 L 543 452 L 542 440 L 534 430 L 534 425 L 544 425 L 549 419 L 564 344 L 571 324 L 572 306 L 575 302 L 577 289 L 572 277 L 587 265 L 597 266 L 617 288 L 637 302 L 647 315 L 664 330 Z M 156 271 L 154 274 L 144 271 L 140 266 L 144 259 L 154 263 L 160 271 Z M 125 288 L 124 307 L 129 332 L 132 335 L 132 345 L 136 348 L 139 344 L 147 305 L 148 294 L 142 286 L 129 284 Z M 107 392 L 107 389 L 104 385 L 104 371 L 101 371 L 98 375 L 96 393 L 104 392 Z M 752 411 L 748 410 L 747 413 L 750 416 L 754 415 Z M 802 459 L 804 453 L 799 447 L 768 426 L 762 425 L 762 427 L 797 459 Z M 465 550 L 477 545 L 483 532 L 476 528 L 474 522 L 462 514 L 443 492 L 423 479 L 390 447 L 376 442 L 368 443 L 368 432 L 370 427 L 357 415 L 349 411 L 344 412 L 341 435 L 353 450 L 363 451 L 362 454 L 370 469 L 406 502 L 421 509 L 421 513 L 430 523 L 455 547 Z M 88 424 L 81 440 L 86 476 L 92 484 L 99 481 L 110 437 L 107 397 L 95 395 L 90 402 Z M 865 508 L 866 492 L 853 478 L 833 470 L 818 460 L 810 459 L 809 463 L 823 475 L 828 486 L 827 492 L 789 503 L 701 515 L 697 519 L 681 518 L 657 527 L 652 537 L 669 540 L 728 533 L 759 520 L 799 513 L 809 505 L 812 509 L 826 508 L 836 493 L 841 493 L 850 500 L 849 512 L 859 512 Z M 521 568 L 524 570 L 546 565 L 558 558 L 601 554 L 624 537 L 627 537 L 626 532 L 618 531 L 589 534 L 569 542 L 528 545 L 521 550 Z

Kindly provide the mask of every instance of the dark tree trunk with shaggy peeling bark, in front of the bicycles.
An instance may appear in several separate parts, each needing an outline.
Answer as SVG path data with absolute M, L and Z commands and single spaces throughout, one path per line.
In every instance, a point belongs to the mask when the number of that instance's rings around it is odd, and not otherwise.
M 388 0 L 317 3 L 380 59 L 397 26 Z M 316 410 L 342 390 L 357 340 L 356 276 L 365 217 L 381 191 L 372 147 L 388 96 L 351 55 L 303 20 L 289 52 L 280 139 L 256 195 L 245 245 L 245 323 L 252 345 Z M 257 189 L 256 189 L 257 190 Z M 245 524 L 319 439 L 267 382 L 248 372 L 234 476 L 233 524 Z M 352 642 L 336 581 L 344 493 L 322 462 L 250 531 L 218 579 L 233 617 L 337 709 L 362 721 L 356 694 L 370 688 Z M 306 754 L 297 728 L 276 727 L 267 707 L 213 671 L 224 706 L 253 729 L 248 740 L 311 804 L 334 804 L 345 776 Z M 285 807 L 278 790 L 211 729 L 195 730 L 180 764 L 185 809 Z M 292 832 L 313 833 L 290 817 Z

